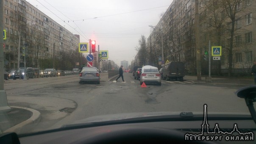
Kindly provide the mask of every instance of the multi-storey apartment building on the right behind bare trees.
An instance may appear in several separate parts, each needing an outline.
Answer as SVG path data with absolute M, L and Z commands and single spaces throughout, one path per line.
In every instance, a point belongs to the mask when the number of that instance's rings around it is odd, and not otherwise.
M 230 0 L 231 3 L 234 0 Z M 188 73 L 196 73 L 196 53 L 200 53 L 202 74 L 208 74 L 207 59 L 210 46 L 221 46 L 220 60 L 211 58 L 211 73 L 248 74 L 253 61 L 256 60 L 254 0 L 240 0 L 234 3 L 230 13 L 226 12 L 223 1 L 198 0 L 200 25 L 199 49 L 195 47 L 195 0 L 173 0 L 159 23 L 153 27 L 147 40 L 147 50 L 156 64 L 163 51 L 164 62 L 183 61 Z M 234 21 L 234 22 L 233 22 Z M 232 29 L 232 23 L 234 28 Z M 233 31 L 232 31 L 233 30 Z M 234 33 L 234 35 L 231 35 Z M 231 40 L 231 37 L 233 39 Z M 163 41 L 162 41 L 163 39 Z M 163 47 L 163 50 L 161 50 Z M 198 49 L 198 48 L 197 48 Z M 159 66 L 160 67 L 160 66 Z

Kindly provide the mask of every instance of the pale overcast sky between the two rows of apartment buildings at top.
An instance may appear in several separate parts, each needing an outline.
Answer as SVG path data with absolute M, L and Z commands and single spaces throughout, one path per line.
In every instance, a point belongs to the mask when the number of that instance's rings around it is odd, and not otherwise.
M 157 25 L 173 0 L 28 0 L 80 42 L 96 40 L 100 50 L 109 50 L 109 60 L 134 60 L 141 35 L 150 35 L 148 25 Z

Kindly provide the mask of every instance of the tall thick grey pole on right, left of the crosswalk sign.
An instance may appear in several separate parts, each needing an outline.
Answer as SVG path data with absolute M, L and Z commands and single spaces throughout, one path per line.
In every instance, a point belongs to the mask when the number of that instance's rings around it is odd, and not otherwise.
M 198 0 L 195 0 L 195 53 L 196 53 L 196 69 L 198 80 L 201 80 L 201 50 L 200 50 L 200 29 L 199 29 L 199 11 Z

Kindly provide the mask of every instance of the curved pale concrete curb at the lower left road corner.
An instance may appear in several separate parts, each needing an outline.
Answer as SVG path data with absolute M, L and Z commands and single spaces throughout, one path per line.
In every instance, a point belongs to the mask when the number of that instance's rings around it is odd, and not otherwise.
M 25 108 L 25 107 L 18 107 L 18 106 L 10 106 L 11 108 L 21 108 L 21 109 L 25 109 L 25 110 L 28 110 L 28 111 L 31 111 L 32 112 L 32 116 L 25 120 L 24 122 L 21 122 L 17 125 L 14 125 L 13 127 L 7 129 L 4 131 L 4 133 L 10 133 L 10 132 L 16 132 L 16 133 L 19 133 L 19 131 L 22 129 L 22 127 L 24 127 L 25 125 L 29 125 L 29 124 L 32 124 L 32 123 L 35 123 L 37 122 L 38 120 L 40 120 L 40 112 L 39 111 L 36 111 L 34 109 L 31 109 L 31 108 Z

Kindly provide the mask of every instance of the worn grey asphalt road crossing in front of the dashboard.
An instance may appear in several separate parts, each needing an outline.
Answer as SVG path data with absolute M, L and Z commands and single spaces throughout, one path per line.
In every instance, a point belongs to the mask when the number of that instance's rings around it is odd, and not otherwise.
M 234 94 L 238 86 L 163 80 L 161 86 L 142 88 L 131 73 L 124 73 L 126 82 L 119 80 L 117 83 L 109 80 L 106 73 L 101 75 L 99 85 L 79 84 L 78 75 L 71 75 L 9 80 L 4 86 L 9 105 L 32 108 L 41 113 L 41 121 L 26 126 L 23 132 L 58 128 L 106 114 L 203 112 L 205 103 L 208 111 L 248 113 L 244 100 Z

